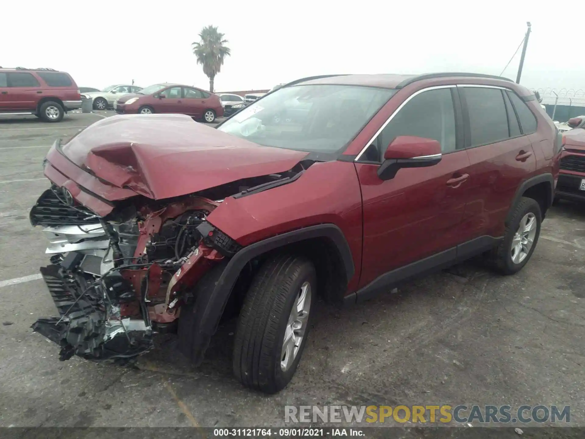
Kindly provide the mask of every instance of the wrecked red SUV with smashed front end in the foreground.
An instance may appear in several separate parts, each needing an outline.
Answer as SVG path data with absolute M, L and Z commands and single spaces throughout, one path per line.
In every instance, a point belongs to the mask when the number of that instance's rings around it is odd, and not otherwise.
M 318 297 L 361 302 L 480 253 L 522 269 L 559 150 L 534 95 L 476 74 L 305 78 L 217 128 L 103 119 L 47 155 L 30 221 L 60 316 L 33 329 L 62 360 L 129 358 L 178 331 L 199 363 L 239 315 L 233 370 L 277 392 Z

